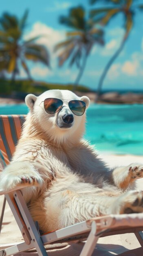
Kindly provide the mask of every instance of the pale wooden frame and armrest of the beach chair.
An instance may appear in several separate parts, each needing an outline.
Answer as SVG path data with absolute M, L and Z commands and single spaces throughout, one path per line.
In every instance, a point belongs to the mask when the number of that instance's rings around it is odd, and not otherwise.
M 25 186 L 27 185 L 23 185 Z M 24 243 L 10 247 L 6 245 L 0 250 L 0 256 L 10 256 L 33 248 L 37 250 L 39 256 L 47 256 L 44 245 L 84 240 L 87 241 L 80 256 L 91 256 L 99 237 L 133 232 L 143 247 L 143 213 L 101 216 L 40 235 L 38 225 L 34 223 L 20 189 L 22 186 L 15 191 L 0 191 L 0 195 L 5 195 Z

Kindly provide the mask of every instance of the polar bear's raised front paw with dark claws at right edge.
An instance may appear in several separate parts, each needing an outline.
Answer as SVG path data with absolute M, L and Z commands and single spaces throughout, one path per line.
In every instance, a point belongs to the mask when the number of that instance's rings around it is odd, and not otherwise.
M 129 186 L 134 189 L 134 181 L 140 178 L 143 178 L 143 165 L 141 164 L 117 167 L 112 171 L 114 184 L 120 189 L 127 189 Z

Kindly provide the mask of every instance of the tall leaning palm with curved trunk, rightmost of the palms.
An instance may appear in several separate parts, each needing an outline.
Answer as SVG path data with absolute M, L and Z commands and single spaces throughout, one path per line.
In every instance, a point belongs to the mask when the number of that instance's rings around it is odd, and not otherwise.
M 97 1 L 96 0 L 90 0 L 91 4 L 93 4 L 95 2 L 97 2 Z M 100 0 L 100 2 L 101 2 L 101 0 Z M 133 18 L 134 18 L 134 14 L 135 14 L 136 9 L 143 9 L 143 4 L 139 4 L 139 5 L 134 4 L 135 0 L 105 0 L 104 2 L 106 2 L 108 4 L 112 3 L 112 6 L 93 9 L 90 12 L 90 16 L 92 18 L 94 18 L 95 24 L 97 22 L 100 22 L 101 25 L 107 25 L 108 22 L 114 16 L 116 16 L 119 13 L 123 13 L 125 33 L 124 33 L 124 36 L 121 40 L 121 44 L 119 46 L 119 49 L 117 49 L 117 51 L 114 53 L 112 58 L 110 58 L 110 60 L 106 64 L 106 67 L 103 70 L 103 73 L 101 74 L 101 77 L 99 79 L 99 84 L 98 84 L 98 87 L 97 87 L 96 101 L 99 99 L 99 95 L 100 95 L 100 92 L 101 92 L 103 81 L 106 77 L 106 74 L 107 74 L 108 70 L 110 69 L 114 60 L 121 53 L 121 51 L 122 51 L 122 49 L 125 45 L 125 42 L 126 42 L 126 40 L 128 39 L 128 37 L 130 35 L 131 29 L 133 27 L 133 22 L 134 22 Z

